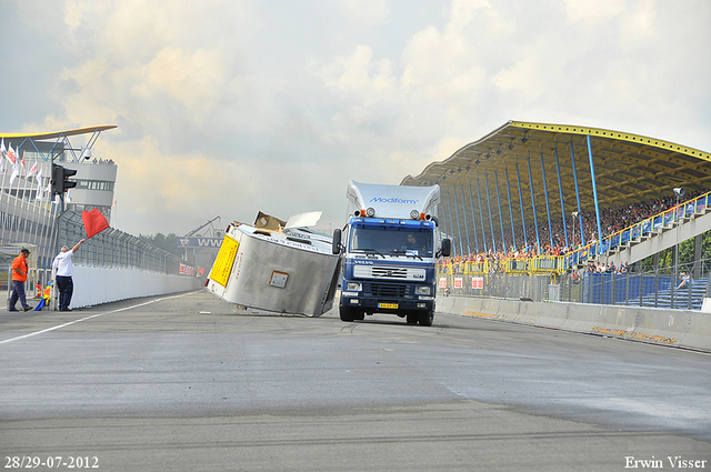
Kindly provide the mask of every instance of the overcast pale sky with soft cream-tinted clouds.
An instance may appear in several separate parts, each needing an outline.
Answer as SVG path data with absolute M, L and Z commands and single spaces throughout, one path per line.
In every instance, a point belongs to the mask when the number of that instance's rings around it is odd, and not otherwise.
M 114 227 L 398 184 L 509 120 L 711 151 L 709 0 L 0 0 L 0 131 L 99 124 Z M 83 138 L 72 139 L 83 144 Z

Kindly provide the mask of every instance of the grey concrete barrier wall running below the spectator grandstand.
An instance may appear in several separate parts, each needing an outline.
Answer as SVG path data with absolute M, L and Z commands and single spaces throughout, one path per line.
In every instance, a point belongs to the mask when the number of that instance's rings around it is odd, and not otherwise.
M 438 297 L 437 311 L 711 352 L 700 311 L 465 297 Z

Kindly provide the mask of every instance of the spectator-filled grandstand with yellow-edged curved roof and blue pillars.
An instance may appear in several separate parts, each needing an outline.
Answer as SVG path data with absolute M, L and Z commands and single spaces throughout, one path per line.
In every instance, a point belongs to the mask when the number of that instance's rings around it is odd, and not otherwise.
M 639 134 L 510 121 L 401 184 L 442 189 L 454 255 L 440 267 L 453 291 L 640 305 L 653 295 L 655 307 L 700 308 L 710 162 L 708 152 Z M 681 272 L 693 290 L 677 290 Z

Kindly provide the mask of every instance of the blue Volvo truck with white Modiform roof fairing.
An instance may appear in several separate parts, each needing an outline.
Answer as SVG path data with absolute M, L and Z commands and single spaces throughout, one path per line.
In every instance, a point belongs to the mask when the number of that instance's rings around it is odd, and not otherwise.
M 333 233 L 333 253 L 342 258 L 341 320 L 392 313 L 408 324 L 432 325 L 437 258 L 451 248 L 447 239 L 440 243 L 439 185 L 351 181 L 347 195 L 351 217 Z

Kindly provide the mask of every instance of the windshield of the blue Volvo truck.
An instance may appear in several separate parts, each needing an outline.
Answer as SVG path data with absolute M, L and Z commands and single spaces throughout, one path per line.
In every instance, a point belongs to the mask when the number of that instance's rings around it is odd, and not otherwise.
M 387 254 L 431 258 L 433 241 L 432 228 L 353 225 L 350 251 L 383 257 Z

